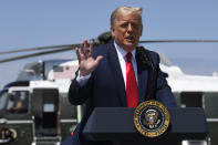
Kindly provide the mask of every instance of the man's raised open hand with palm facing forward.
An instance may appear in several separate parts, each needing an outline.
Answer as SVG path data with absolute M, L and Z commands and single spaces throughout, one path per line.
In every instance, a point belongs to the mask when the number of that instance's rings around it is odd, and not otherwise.
M 80 65 L 80 76 L 85 76 L 92 71 L 95 70 L 97 66 L 98 62 L 103 59 L 102 55 L 98 55 L 96 60 L 93 58 L 93 44 L 94 42 L 90 42 L 90 46 L 87 45 L 87 40 L 85 39 L 81 44 L 80 44 L 80 50 L 76 48 L 75 52 L 77 55 L 79 60 L 79 65 Z

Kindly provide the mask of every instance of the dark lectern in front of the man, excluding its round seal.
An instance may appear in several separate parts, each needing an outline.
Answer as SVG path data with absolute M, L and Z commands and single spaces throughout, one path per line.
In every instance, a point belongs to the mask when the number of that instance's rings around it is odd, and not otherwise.
M 208 135 L 203 108 L 168 108 L 170 124 L 165 134 L 148 138 L 134 126 L 134 111 L 128 107 L 96 107 L 91 114 L 83 135 L 89 141 L 108 141 L 113 145 L 174 145 L 183 139 L 206 139 Z

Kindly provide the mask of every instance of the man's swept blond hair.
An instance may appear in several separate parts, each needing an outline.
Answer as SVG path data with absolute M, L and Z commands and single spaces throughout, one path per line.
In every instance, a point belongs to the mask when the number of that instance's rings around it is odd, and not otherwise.
M 111 27 L 114 27 L 115 21 L 118 18 L 120 13 L 128 13 L 128 14 L 136 14 L 138 15 L 141 22 L 142 22 L 142 13 L 143 9 L 141 7 L 120 7 L 116 8 L 111 15 Z

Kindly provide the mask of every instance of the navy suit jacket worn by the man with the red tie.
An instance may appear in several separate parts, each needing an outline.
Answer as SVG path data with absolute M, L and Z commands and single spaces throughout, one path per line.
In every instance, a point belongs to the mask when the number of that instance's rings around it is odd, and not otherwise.
M 162 102 L 166 107 L 176 106 L 174 95 L 167 84 L 166 75 L 159 69 L 159 56 L 157 53 L 148 51 L 156 69 L 156 91 L 155 100 Z M 114 40 L 107 44 L 94 48 L 93 56 L 103 55 L 97 68 L 92 72 L 86 85 L 80 86 L 73 80 L 69 90 L 69 101 L 74 104 L 85 104 L 84 115 L 75 131 L 79 139 L 84 141 L 82 132 L 90 114 L 94 107 L 126 107 L 126 93 L 118 56 L 114 46 Z M 143 59 L 139 49 L 136 48 L 137 80 L 138 80 L 138 103 L 147 100 L 149 84 L 154 77 L 152 68 Z M 77 138 L 76 137 L 76 138 Z M 76 144 L 76 143 L 74 143 Z M 82 143 L 80 143 L 82 144 Z

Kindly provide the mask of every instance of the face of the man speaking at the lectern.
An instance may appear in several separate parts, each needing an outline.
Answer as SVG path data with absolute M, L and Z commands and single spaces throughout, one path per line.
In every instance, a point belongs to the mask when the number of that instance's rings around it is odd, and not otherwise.
M 143 25 L 136 14 L 118 13 L 118 18 L 111 28 L 111 32 L 116 43 L 125 51 L 133 51 L 142 35 Z

